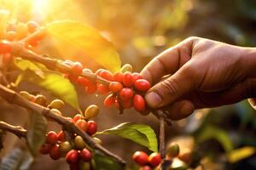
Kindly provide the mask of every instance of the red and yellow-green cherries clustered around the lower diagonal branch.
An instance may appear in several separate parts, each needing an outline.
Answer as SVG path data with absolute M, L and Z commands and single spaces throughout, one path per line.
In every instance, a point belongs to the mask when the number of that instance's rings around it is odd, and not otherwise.
M 98 112 L 99 108 L 96 105 L 90 105 L 83 115 L 77 114 L 73 118 L 67 117 L 67 119 L 84 133 L 92 136 L 97 131 L 97 125 L 96 122 L 89 119 L 94 118 Z M 100 139 L 92 139 L 97 144 L 102 143 Z M 93 154 L 87 148 L 84 139 L 77 134 L 67 133 L 66 131 L 60 131 L 59 133 L 49 131 L 46 135 L 45 144 L 40 149 L 40 153 L 44 155 L 49 154 L 49 157 L 53 160 L 65 157 L 71 170 L 89 170 L 90 166 L 94 166 L 92 161 Z

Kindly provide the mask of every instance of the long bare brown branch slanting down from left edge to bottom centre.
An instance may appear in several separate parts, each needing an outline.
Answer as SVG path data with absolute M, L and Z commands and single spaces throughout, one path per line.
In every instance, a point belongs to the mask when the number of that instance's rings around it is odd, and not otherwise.
M 64 127 L 67 130 L 67 132 L 79 134 L 84 139 L 86 144 L 88 144 L 92 149 L 100 150 L 106 156 L 110 156 L 115 161 L 118 161 L 122 165 L 125 165 L 125 161 L 123 159 L 121 159 L 119 156 L 114 155 L 112 152 L 102 147 L 102 145 L 96 144 L 87 133 L 81 131 L 79 127 L 75 126 L 75 124 L 73 122 L 70 122 L 66 117 L 57 115 L 55 114 L 55 112 L 51 111 L 47 107 L 37 105 L 35 103 L 28 101 L 27 99 L 24 99 L 20 96 L 20 94 L 17 94 L 15 93 L 15 91 L 4 87 L 2 84 L 0 84 L 0 96 L 2 96 L 3 99 L 9 101 L 9 103 L 20 105 L 22 107 L 25 107 L 26 109 L 36 111 L 50 119 L 54 119 L 55 122 L 61 124 L 61 126 Z

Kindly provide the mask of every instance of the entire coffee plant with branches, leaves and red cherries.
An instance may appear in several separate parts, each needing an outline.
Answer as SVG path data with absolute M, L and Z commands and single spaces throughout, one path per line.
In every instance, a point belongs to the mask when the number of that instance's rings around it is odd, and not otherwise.
M 77 21 L 60 20 L 39 26 L 32 20 L 14 22 L 8 20 L 7 14 L 1 15 L 6 20 L 0 21 L 0 96 L 12 105 L 26 108 L 31 116 L 26 129 L 11 122 L 0 122 L 1 148 L 5 132 L 26 139 L 27 144 L 27 149 L 15 149 L 3 157 L 0 169 L 28 169 L 38 153 L 48 155 L 53 161 L 65 159 L 72 170 L 131 169 L 123 159 L 102 146 L 98 134 L 118 135 L 152 152 L 149 155 L 143 151 L 134 153 L 131 157 L 137 165 L 132 169 L 189 168 L 191 152 L 179 154 L 178 144 L 165 149 L 165 123 L 170 125 L 171 120 L 165 111 L 147 107 L 143 96 L 150 83 L 132 72 L 131 65 L 121 67 L 119 54 L 99 32 Z M 91 71 L 90 65 L 79 61 L 58 59 L 49 56 L 47 51 L 39 54 L 37 47 L 49 38 L 56 40 L 56 46 L 68 48 L 71 54 L 92 56 L 104 69 Z M 8 76 L 12 71 L 19 72 L 15 81 Z M 19 92 L 17 86 L 22 81 L 37 84 L 57 99 L 50 101 L 40 92 Z M 81 111 L 73 84 L 83 87 L 87 94 L 105 95 L 102 102 L 106 109 L 115 107 L 122 114 L 125 109 L 134 108 L 144 116 L 154 114 L 160 122 L 159 144 L 151 127 L 135 122 L 124 122 L 98 132 L 94 118 L 101 114 L 99 107 L 89 105 Z M 77 113 L 73 117 L 65 116 L 61 112 L 64 105 L 71 105 Z M 48 122 L 57 122 L 62 130 L 47 132 Z

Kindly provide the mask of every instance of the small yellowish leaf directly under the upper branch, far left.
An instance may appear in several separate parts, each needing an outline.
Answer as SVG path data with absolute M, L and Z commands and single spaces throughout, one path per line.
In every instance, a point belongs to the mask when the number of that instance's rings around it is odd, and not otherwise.
M 33 71 L 38 77 L 44 78 L 44 71 L 41 68 L 44 68 L 44 65 L 39 65 L 36 63 L 32 63 L 26 59 L 17 59 L 15 58 L 15 65 L 20 68 L 21 71 L 30 70 Z

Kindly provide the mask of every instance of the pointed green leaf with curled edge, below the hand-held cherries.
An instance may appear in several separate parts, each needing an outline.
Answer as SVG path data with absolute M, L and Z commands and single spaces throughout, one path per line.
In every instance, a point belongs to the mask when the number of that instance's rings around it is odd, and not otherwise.
M 137 124 L 133 122 L 125 122 L 97 134 L 114 134 L 124 139 L 130 139 L 137 144 L 148 147 L 149 150 L 154 152 L 158 151 L 157 138 L 154 130 L 148 125 Z

